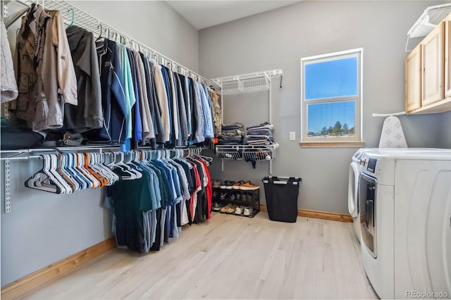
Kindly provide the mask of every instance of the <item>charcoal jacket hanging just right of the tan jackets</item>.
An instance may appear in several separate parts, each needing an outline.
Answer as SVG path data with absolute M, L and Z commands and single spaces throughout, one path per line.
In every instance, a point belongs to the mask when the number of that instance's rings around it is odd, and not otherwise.
M 78 82 L 78 106 L 66 104 L 64 125 L 71 132 L 100 128 L 104 125 L 104 113 L 94 35 L 75 25 L 68 27 L 66 34 Z

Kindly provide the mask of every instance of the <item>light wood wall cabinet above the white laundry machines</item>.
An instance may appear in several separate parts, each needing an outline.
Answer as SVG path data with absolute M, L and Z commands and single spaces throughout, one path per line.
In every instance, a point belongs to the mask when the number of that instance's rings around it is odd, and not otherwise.
M 451 111 L 451 14 L 438 24 L 405 61 L 405 110 L 414 113 Z

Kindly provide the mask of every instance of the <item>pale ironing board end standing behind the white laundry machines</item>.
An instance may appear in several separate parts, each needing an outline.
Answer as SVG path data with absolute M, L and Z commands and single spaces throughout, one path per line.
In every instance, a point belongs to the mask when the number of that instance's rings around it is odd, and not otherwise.
M 407 148 L 401 122 L 397 117 L 390 115 L 383 121 L 379 148 Z

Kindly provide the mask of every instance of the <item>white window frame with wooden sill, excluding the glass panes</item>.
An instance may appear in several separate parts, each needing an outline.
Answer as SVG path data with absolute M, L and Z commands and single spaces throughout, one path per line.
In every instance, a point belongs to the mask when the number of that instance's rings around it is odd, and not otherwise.
M 320 54 L 316 56 L 308 56 L 301 58 L 301 142 L 302 146 L 363 146 L 362 141 L 362 87 L 363 87 L 363 48 L 350 49 L 345 51 L 332 52 L 328 54 Z M 305 99 L 305 65 L 309 63 L 320 63 L 322 61 L 334 61 L 342 58 L 350 58 L 357 56 L 357 95 L 355 96 L 338 96 L 319 99 Z M 326 104 L 340 103 L 344 101 L 354 101 L 354 137 L 309 137 L 307 127 L 307 104 Z

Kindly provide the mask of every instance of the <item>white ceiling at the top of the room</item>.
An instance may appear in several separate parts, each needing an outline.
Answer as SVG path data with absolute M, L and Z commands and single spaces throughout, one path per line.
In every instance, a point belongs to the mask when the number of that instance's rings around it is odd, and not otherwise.
M 295 4 L 299 1 L 166 1 L 197 30 L 249 15 Z

